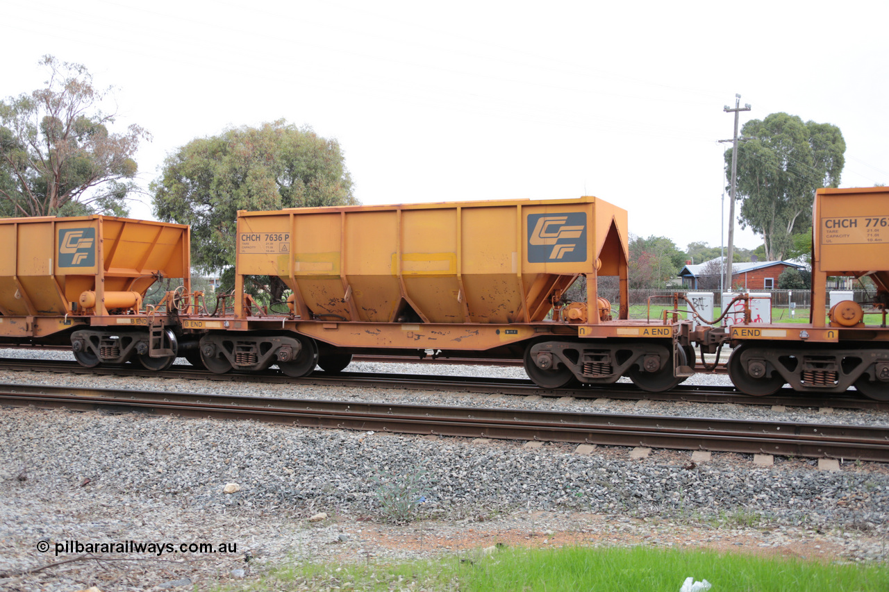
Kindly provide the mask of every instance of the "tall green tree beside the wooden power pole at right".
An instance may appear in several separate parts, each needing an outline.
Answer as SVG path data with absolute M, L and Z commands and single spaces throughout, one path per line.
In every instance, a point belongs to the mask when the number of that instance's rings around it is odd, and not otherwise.
M 765 239 L 765 258 L 783 260 L 795 229 L 811 228 L 815 189 L 837 187 L 845 164 L 845 140 L 836 125 L 803 123 L 773 113 L 744 124 L 738 146 L 741 226 Z M 726 169 L 732 150 L 725 152 Z

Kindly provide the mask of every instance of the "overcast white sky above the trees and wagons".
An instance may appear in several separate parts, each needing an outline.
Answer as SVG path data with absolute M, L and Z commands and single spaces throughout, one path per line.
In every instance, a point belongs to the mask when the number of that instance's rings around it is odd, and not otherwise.
M 285 118 L 340 141 L 364 204 L 593 195 L 636 235 L 719 245 L 736 92 L 741 124 L 838 125 L 842 186 L 889 183 L 885 0 L 0 4 L 0 97 L 46 53 L 84 64 L 153 135 L 145 188 L 189 140 Z

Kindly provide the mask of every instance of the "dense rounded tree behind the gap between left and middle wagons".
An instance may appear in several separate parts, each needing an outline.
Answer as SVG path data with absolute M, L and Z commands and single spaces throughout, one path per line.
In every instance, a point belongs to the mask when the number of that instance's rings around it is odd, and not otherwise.
M 357 204 L 339 143 L 284 120 L 191 140 L 151 192 L 159 220 L 191 225 L 192 262 L 207 272 L 235 264 L 238 210 Z

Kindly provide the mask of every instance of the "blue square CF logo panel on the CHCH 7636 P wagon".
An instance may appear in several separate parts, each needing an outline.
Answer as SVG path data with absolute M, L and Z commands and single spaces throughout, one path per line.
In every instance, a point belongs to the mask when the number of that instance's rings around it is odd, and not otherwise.
M 528 260 L 587 260 L 587 216 L 584 212 L 528 215 Z

